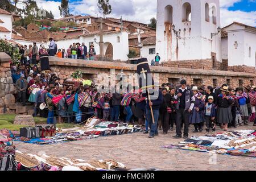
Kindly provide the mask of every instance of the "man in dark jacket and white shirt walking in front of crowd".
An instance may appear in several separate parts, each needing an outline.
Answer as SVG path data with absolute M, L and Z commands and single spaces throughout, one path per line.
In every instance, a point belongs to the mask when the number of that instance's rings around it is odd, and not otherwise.
M 177 95 L 174 99 L 177 100 L 177 117 L 176 117 L 176 135 L 174 138 L 181 138 L 181 128 L 184 123 L 183 138 L 188 138 L 188 127 L 189 127 L 189 113 L 195 105 L 195 98 L 193 97 L 193 92 L 187 87 L 187 82 L 181 80 L 181 88 L 177 90 Z

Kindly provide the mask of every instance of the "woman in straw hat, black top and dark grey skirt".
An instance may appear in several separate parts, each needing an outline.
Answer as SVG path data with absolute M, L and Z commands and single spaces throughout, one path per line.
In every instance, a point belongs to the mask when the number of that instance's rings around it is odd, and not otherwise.
M 222 86 L 221 94 L 217 97 L 217 122 L 221 124 L 221 129 L 228 130 L 228 123 L 232 122 L 230 105 L 233 104 L 232 97 L 229 96 L 228 86 Z

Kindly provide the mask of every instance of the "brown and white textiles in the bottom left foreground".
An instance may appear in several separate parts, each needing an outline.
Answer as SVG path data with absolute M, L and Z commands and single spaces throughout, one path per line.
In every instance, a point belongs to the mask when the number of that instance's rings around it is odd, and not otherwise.
M 115 160 L 90 160 L 58 158 L 24 154 L 16 151 L 15 161 L 18 171 L 128 171 L 122 163 Z

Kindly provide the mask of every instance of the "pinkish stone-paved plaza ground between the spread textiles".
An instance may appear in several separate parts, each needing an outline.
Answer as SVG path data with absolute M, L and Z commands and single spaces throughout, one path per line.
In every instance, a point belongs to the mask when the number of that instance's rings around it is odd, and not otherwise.
M 240 129 L 256 129 L 252 126 L 240 126 Z M 189 131 L 192 131 L 191 126 Z M 233 131 L 234 128 L 229 129 Z M 219 132 L 221 130 L 217 130 Z M 197 134 L 204 135 L 205 133 Z M 80 140 L 75 142 L 38 145 L 15 142 L 17 150 L 30 154 L 46 152 L 47 155 L 58 157 L 91 159 L 114 159 L 127 168 L 158 168 L 161 170 L 255 170 L 256 159 L 242 156 L 209 155 L 196 151 L 184 151 L 161 148 L 163 145 L 177 144 L 184 139 L 173 139 L 175 132 L 153 139 L 146 134 L 135 133 L 113 137 Z M 190 133 L 190 136 L 192 134 Z M 212 162 L 216 159 L 216 163 Z

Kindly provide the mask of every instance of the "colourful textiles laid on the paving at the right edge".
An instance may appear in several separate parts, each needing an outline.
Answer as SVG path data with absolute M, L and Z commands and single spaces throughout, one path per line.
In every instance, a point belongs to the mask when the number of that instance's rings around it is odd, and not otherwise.
M 216 133 L 212 136 L 192 136 L 179 144 L 170 144 L 162 148 L 190 150 L 198 152 L 214 151 L 216 154 L 236 156 L 256 156 L 256 131 L 238 130 Z

